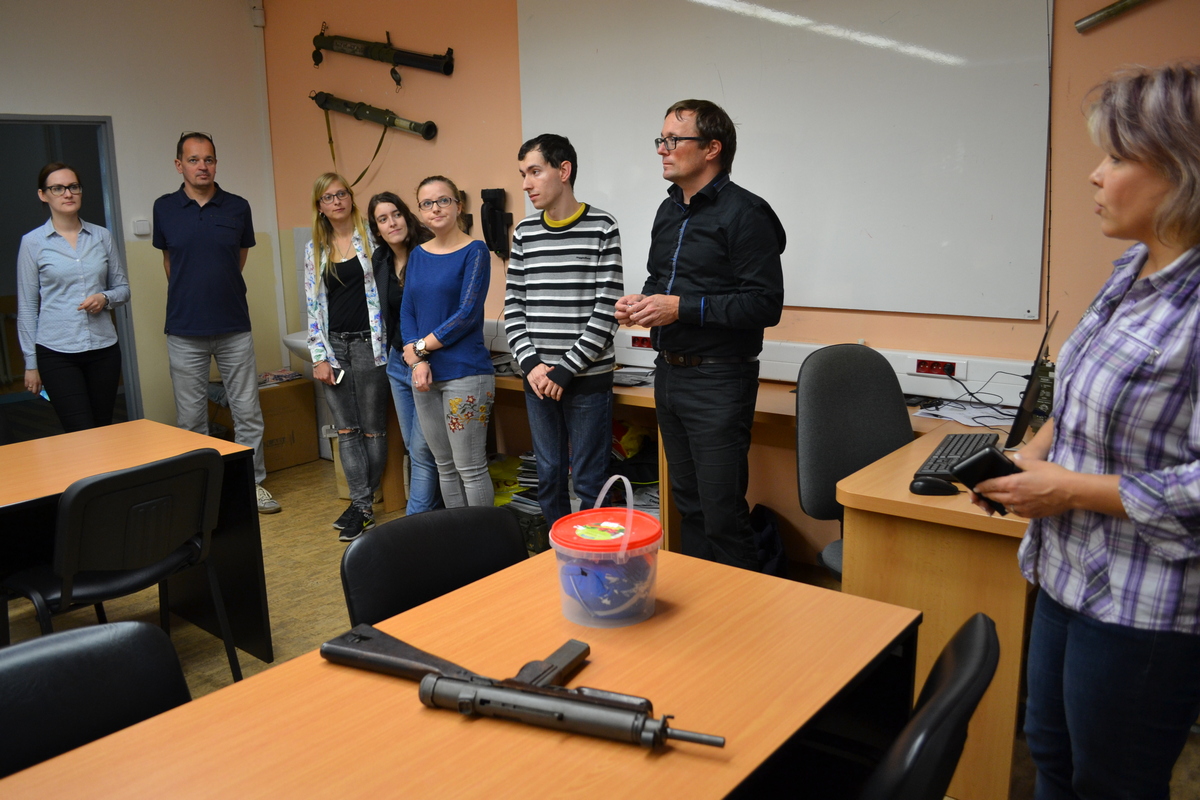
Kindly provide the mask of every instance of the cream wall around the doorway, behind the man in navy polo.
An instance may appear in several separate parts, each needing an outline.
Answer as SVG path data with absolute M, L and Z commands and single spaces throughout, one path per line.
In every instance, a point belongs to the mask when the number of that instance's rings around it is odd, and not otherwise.
M 133 235 L 132 222 L 150 219 L 154 200 L 179 187 L 173 160 L 181 131 L 212 134 L 217 181 L 254 211 L 258 246 L 245 271 L 251 320 L 259 368 L 277 368 L 278 253 L 262 34 L 247 0 L 58 0 L 6 4 L 4 13 L 0 112 L 113 118 L 146 417 L 175 420 L 162 332 L 167 282 L 162 254 L 150 236 Z M 32 167 L 35 178 L 40 167 Z

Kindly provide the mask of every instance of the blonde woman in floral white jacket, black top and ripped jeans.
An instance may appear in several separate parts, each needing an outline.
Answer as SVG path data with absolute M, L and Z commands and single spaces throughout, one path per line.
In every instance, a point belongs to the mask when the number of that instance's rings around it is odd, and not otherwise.
M 374 528 L 374 492 L 388 462 L 388 276 L 373 269 L 372 249 L 346 179 L 318 178 L 304 291 L 312 377 L 325 384 L 350 491 L 350 506 L 334 523 L 343 542 Z

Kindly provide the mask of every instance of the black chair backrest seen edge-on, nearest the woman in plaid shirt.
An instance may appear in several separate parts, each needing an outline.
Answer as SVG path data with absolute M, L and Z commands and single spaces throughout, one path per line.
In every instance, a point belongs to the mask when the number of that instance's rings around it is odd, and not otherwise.
M 996 624 L 976 614 L 942 649 L 912 718 L 871 774 L 860 800 L 942 800 L 967 740 L 967 723 L 1000 661 Z

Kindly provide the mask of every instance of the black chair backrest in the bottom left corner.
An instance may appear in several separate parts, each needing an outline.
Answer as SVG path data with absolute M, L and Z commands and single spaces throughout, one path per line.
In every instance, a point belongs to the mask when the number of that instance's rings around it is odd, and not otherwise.
M 0 648 L 0 776 L 192 699 L 170 638 L 91 625 Z

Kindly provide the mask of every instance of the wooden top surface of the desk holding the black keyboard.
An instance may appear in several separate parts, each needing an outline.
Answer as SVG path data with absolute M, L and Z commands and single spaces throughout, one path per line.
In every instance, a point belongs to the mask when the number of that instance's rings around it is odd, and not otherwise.
M 970 495 L 928 497 L 908 491 L 913 473 L 924 463 L 929 453 L 947 433 L 977 433 L 956 422 L 944 422 L 912 444 L 884 456 L 870 467 L 860 469 L 838 482 L 838 501 L 847 509 L 875 511 L 911 519 L 954 525 L 1020 539 L 1025 535 L 1028 519 L 1008 515 L 989 517 L 971 504 Z

